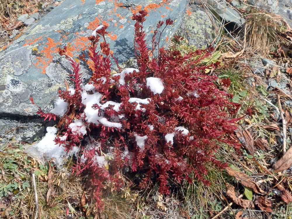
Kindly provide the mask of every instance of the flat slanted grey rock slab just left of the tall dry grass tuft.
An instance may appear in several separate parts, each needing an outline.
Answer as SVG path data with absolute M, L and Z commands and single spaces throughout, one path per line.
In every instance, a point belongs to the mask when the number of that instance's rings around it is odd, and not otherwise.
M 241 26 L 245 23 L 245 19 L 224 0 L 207 0 L 208 7 L 212 9 L 215 15 L 219 15 L 222 19 L 234 22 Z

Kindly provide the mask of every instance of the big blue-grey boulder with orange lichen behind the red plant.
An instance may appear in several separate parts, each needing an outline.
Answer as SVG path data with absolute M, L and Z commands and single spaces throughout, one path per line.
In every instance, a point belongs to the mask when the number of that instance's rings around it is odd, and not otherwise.
M 0 137 L 12 129 L 17 121 L 22 121 L 18 125 L 20 137 L 16 136 L 17 139 L 23 136 L 21 140 L 30 142 L 39 135 L 40 130 L 44 130 L 36 115 L 38 108 L 30 103 L 29 97 L 33 96 L 35 103 L 49 112 L 53 108 L 58 89 L 65 88 L 64 80 L 69 81 L 67 75 L 71 66 L 65 58 L 58 55 L 58 47 L 67 45 L 72 56 L 80 59 L 84 80 L 87 80 L 90 72 L 88 63 L 85 62 L 89 45 L 87 36 L 98 25 L 108 26 L 106 40 L 119 62 L 124 62 L 134 57 L 133 12 L 145 8 L 149 13 L 144 22 L 149 45 L 151 32 L 158 21 L 166 18 L 174 20 L 174 24 L 166 29 L 162 37 L 160 44 L 164 46 L 180 27 L 186 6 L 187 0 L 171 0 L 167 3 L 161 0 L 62 2 L 41 20 L 34 22 L 29 32 L 0 53 Z M 26 14 L 19 20 L 25 21 L 27 18 Z M 29 118 L 34 118 L 31 120 L 33 124 L 28 125 L 31 127 L 21 127 L 21 123 Z

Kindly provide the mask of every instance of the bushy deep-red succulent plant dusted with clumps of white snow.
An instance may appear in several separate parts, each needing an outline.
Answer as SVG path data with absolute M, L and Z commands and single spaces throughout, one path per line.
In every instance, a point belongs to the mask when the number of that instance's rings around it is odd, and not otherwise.
M 120 174 L 126 167 L 141 177 L 140 188 L 159 184 L 159 192 L 169 194 L 170 181 L 192 182 L 191 173 L 208 184 L 206 163 L 220 169 L 226 166 L 214 157 L 218 142 L 239 147 L 233 138 L 236 119 L 231 119 L 239 105 L 216 87 L 215 76 L 205 73 L 219 63 L 201 62 L 212 55 L 213 48 L 186 55 L 175 48 L 159 48 L 161 33 L 173 23 L 167 19 L 161 32 L 164 22 L 157 24 L 148 49 L 142 25 L 146 15 L 140 11 L 132 17 L 136 21 L 137 69 L 119 67 L 105 40 L 107 27 L 99 26 L 88 37 L 93 62 L 88 84 L 82 85 L 79 63 L 67 54 L 65 46 L 60 55 L 71 62 L 74 90 L 68 86 L 59 90 L 53 113 L 38 111 L 45 119 L 58 120 L 56 144 L 67 152 L 80 148 L 74 172 L 90 175 L 98 207 L 106 185 L 114 189 L 122 186 Z M 100 37 L 103 42 L 97 52 Z M 114 75 L 111 60 L 119 68 Z M 53 131 L 51 135 L 55 135 Z

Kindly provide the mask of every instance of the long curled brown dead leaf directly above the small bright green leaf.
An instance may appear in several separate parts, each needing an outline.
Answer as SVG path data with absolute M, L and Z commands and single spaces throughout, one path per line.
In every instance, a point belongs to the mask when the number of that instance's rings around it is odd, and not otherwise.
M 254 192 L 264 195 L 266 194 L 265 191 L 263 191 L 258 184 L 256 184 L 248 175 L 241 173 L 241 172 L 237 172 L 236 170 L 227 167 L 226 168 L 227 173 L 230 176 L 234 176 L 235 179 L 239 180 L 241 182 L 242 185 L 244 185 L 245 187 L 251 188 L 253 189 Z

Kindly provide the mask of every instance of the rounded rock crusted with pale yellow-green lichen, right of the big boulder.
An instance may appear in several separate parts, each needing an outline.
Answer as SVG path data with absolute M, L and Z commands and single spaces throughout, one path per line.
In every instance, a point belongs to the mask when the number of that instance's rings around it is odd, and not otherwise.
M 208 12 L 197 4 L 188 7 L 188 13 L 183 17 L 183 24 L 178 34 L 187 39 L 190 45 L 197 48 L 211 43 L 215 32 Z

